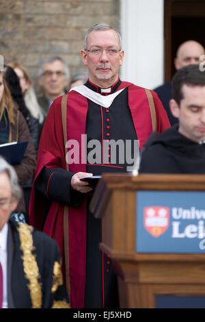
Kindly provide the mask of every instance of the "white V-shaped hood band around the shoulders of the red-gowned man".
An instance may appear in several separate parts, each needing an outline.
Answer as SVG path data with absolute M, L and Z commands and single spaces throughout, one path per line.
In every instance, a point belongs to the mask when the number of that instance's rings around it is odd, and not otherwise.
M 113 103 L 115 97 L 117 97 L 120 94 L 120 92 L 124 90 L 124 88 L 122 88 L 122 90 L 118 90 L 117 92 L 113 92 L 113 94 L 109 94 L 107 96 L 103 96 L 98 92 L 94 92 L 94 90 L 90 90 L 90 88 L 88 88 L 85 85 L 72 87 L 70 88 L 69 92 L 71 92 L 71 90 L 79 92 L 81 95 L 87 97 L 87 99 L 90 99 L 91 101 L 102 106 L 103 108 L 109 108 Z

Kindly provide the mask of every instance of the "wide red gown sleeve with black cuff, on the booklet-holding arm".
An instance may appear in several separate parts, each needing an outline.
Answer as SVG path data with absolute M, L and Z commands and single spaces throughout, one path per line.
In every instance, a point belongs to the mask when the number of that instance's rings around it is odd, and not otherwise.
M 64 132 L 61 122 L 55 120 L 61 120 L 61 97 L 53 101 L 44 122 L 31 190 L 29 223 L 39 230 L 45 229 L 47 216 L 54 218 L 64 205 L 75 207 L 85 198 L 70 188 L 73 173 L 66 170 Z

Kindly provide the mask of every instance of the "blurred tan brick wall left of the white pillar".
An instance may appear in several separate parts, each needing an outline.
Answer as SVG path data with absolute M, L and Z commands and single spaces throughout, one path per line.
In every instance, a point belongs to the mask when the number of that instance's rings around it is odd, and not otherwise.
M 0 54 L 25 65 L 34 80 L 49 55 L 61 55 L 73 74 L 83 69 L 79 51 L 95 23 L 119 29 L 120 0 L 0 0 Z

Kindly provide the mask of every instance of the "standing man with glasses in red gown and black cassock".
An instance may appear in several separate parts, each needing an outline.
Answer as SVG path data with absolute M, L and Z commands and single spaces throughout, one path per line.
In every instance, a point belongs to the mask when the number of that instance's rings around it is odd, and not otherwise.
M 122 161 L 125 151 L 113 149 L 111 141 L 132 143 L 131 158 L 137 139 L 141 149 L 152 130 L 163 132 L 169 121 L 154 92 L 120 80 L 124 51 L 112 27 L 90 28 L 81 56 L 87 82 L 56 99 L 44 124 L 30 220 L 61 247 L 72 307 L 114 308 L 117 282 L 109 257 L 98 248 L 101 221 L 88 209 L 92 188 L 81 179 L 124 173 L 131 162 Z

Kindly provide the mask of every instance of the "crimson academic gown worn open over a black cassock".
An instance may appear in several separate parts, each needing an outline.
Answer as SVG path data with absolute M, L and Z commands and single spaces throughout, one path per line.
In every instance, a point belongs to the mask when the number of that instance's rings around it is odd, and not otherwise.
M 131 83 L 122 82 L 118 90 L 121 88 L 128 88 L 128 106 L 131 110 L 135 132 L 137 133 L 141 149 L 150 134 L 152 134 L 152 118 L 148 105 L 148 97 L 143 88 Z M 161 101 L 159 101 L 155 92 L 152 92 L 152 97 L 156 111 L 156 129 L 157 132 L 161 133 L 169 128 L 169 121 Z M 69 225 L 67 227 L 64 220 L 65 209 L 67 207 L 64 207 L 56 201 L 51 201 L 48 209 L 46 201 L 40 199 L 38 191 L 35 188 L 36 178 L 44 167 L 66 169 L 64 133 L 61 122 L 61 99 L 62 97 L 58 97 L 53 102 L 42 130 L 38 149 L 36 175 L 31 191 L 29 218 L 31 225 L 49 234 L 59 244 L 63 257 L 63 273 L 66 275 L 67 281 L 69 280 L 70 282 L 71 307 L 83 308 L 85 303 L 86 271 L 86 199 L 84 199 L 78 208 L 69 208 Z M 86 129 L 87 108 L 88 103 L 86 97 L 83 97 L 75 91 L 68 94 L 66 140 L 77 140 L 80 151 L 81 134 L 85 134 Z M 73 173 L 79 171 L 85 172 L 86 164 L 70 164 L 69 171 Z M 64 238 L 64 235 L 67 238 Z M 67 264 L 64 262 L 65 258 L 69 258 Z

